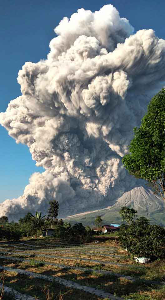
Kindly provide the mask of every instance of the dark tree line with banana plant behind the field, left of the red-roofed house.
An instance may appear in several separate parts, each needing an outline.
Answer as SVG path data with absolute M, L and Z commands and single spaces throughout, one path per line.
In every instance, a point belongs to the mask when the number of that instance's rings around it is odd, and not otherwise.
M 18 241 L 21 237 L 41 236 L 42 230 L 46 228 L 54 229 L 53 237 L 79 241 L 88 241 L 94 232 L 89 226 L 85 227 L 82 223 L 71 225 L 58 220 L 59 204 L 56 200 L 49 202 L 50 207 L 47 215 L 42 216 L 42 212 L 36 212 L 33 215 L 28 212 L 25 217 L 20 218 L 18 222 L 8 222 L 8 217 L 0 217 L 0 240 Z

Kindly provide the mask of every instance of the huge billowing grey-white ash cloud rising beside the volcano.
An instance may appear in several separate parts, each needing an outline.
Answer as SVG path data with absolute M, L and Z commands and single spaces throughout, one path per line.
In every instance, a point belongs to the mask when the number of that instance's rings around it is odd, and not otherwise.
M 61 216 L 103 207 L 138 186 L 121 159 L 164 85 L 165 41 L 152 29 L 133 34 L 112 5 L 79 9 L 55 33 L 47 60 L 25 63 L 22 96 L 0 114 L 9 135 L 46 170 L 32 175 L 23 196 L 0 204 L 10 219 L 44 211 L 54 198 Z

